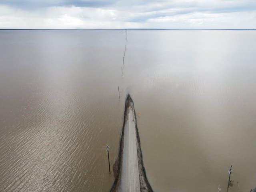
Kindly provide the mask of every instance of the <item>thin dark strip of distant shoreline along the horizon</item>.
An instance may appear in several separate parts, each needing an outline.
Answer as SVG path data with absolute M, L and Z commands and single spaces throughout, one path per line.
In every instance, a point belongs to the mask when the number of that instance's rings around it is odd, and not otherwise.
M 6 28 L 0 30 L 233 30 L 233 31 L 254 31 L 256 29 L 154 29 L 154 28 L 123 28 L 123 29 L 13 29 Z

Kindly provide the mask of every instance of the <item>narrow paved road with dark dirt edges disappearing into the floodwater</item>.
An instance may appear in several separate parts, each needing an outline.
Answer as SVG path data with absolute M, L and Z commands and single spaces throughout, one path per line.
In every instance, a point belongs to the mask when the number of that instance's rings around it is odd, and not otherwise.
M 126 99 L 119 155 L 114 165 L 114 172 L 115 181 L 111 192 L 153 191 L 143 167 L 136 113 L 130 95 Z

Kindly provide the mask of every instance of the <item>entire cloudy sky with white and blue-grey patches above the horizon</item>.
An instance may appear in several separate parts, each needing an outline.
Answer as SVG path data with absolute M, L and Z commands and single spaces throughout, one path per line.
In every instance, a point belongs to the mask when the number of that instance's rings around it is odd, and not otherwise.
M 0 28 L 256 28 L 256 0 L 0 0 Z

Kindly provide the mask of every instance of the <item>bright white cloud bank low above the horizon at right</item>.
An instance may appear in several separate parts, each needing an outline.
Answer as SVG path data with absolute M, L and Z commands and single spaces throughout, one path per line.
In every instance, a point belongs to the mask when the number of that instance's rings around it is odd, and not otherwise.
M 249 13 L 189 13 L 176 16 L 152 18 L 150 26 L 162 28 L 253 28 L 256 26 L 256 12 Z

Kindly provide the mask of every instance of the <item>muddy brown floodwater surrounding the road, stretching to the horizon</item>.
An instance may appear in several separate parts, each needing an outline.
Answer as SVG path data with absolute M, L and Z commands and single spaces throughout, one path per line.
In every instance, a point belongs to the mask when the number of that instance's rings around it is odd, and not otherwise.
M 132 95 L 155 191 L 256 186 L 256 33 L 0 31 L 0 191 L 108 191 Z M 120 86 L 120 100 L 118 100 Z

